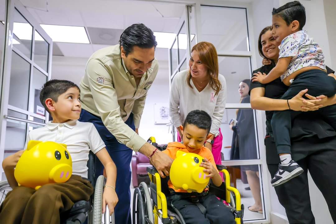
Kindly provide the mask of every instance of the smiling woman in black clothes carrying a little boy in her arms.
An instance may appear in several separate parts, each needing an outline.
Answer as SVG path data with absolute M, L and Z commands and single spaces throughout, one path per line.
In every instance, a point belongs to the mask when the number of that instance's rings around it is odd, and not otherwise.
M 271 34 L 272 27 L 264 28 L 258 40 L 259 54 L 269 62 L 267 65 L 253 71 L 268 74 L 275 67 L 279 57 L 279 42 Z M 333 76 L 327 67 L 327 73 Z M 270 120 L 273 110 L 308 111 L 301 113 L 292 122 L 291 151 L 292 158 L 303 169 L 303 173 L 285 184 L 275 187 L 280 204 L 285 207 L 289 223 L 314 224 L 315 219 L 311 212 L 307 171 L 324 195 L 329 212 L 336 223 L 336 132 L 315 111 L 321 106 L 334 103 L 331 98 L 316 99 L 309 96 L 306 100 L 302 96 L 307 90 L 300 91 L 288 100 L 280 99 L 287 91 L 288 86 L 280 78 L 267 83 L 251 82 L 250 96 L 253 109 L 266 110 L 266 162 L 271 176 L 278 171 L 279 155 L 274 142 Z M 289 105 L 288 105 L 289 104 Z M 326 184 L 328 183 L 328 184 Z

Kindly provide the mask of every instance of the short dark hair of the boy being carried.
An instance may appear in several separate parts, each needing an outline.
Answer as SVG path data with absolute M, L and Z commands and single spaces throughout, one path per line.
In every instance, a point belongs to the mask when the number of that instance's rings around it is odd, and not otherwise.
M 306 24 L 306 10 L 299 1 L 288 2 L 279 8 L 273 8 L 272 15 L 278 15 L 289 26 L 294 20 L 299 21 L 299 29 Z

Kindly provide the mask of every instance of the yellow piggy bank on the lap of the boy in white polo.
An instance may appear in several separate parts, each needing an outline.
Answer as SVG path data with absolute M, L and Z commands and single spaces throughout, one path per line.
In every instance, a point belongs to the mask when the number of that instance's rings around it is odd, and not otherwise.
M 14 170 L 19 185 L 36 190 L 44 184 L 64 183 L 71 175 L 72 160 L 67 145 L 51 141 L 29 141 Z

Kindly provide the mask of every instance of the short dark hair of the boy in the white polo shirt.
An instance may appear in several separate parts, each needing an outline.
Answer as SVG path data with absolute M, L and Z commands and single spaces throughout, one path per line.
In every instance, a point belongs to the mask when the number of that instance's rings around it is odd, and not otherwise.
M 65 93 L 71 87 L 76 87 L 80 92 L 79 87 L 68 80 L 52 79 L 44 83 L 40 92 L 40 101 L 44 108 L 50 113 L 45 105 L 45 100 L 51 98 L 53 101 L 57 102 L 58 96 Z

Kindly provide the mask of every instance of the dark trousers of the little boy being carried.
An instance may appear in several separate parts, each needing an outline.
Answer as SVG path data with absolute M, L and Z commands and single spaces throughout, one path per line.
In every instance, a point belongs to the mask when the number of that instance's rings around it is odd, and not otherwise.
M 336 80 L 322 70 L 310 70 L 298 75 L 281 99 L 291 99 L 301 90 L 308 88 L 312 96 L 336 94 Z M 320 108 L 319 115 L 336 130 L 336 104 Z M 282 110 L 274 111 L 271 126 L 275 142 L 280 153 L 291 153 L 291 128 L 292 120 L 302 113 L 301 111 Z

